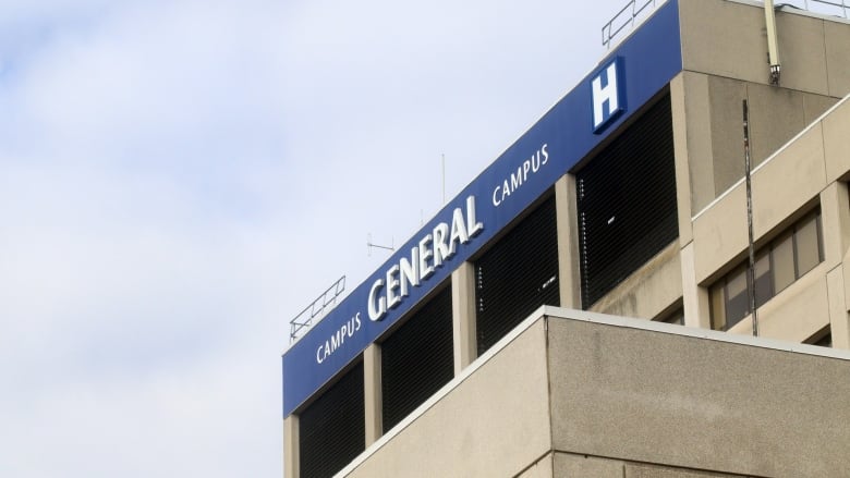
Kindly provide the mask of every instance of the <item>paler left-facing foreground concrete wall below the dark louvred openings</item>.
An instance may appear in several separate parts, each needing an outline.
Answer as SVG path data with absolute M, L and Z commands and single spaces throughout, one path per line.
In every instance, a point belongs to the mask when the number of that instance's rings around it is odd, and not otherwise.
M 508 477 L 550 449 L 545 322 L 537 321 L 382 443 L 351 477 Z

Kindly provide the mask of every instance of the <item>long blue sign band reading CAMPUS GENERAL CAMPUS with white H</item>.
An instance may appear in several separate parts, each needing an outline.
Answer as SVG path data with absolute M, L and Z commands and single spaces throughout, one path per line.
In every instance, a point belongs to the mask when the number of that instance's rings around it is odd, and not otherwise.
M 633 114 L 626 98 L 639 107 L 665 88 L 682 70 L 678 1 L 661 5 L 600 64 L 283 354 L 284 417 Z

